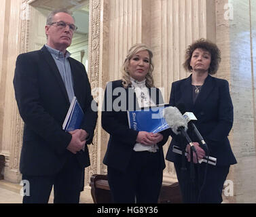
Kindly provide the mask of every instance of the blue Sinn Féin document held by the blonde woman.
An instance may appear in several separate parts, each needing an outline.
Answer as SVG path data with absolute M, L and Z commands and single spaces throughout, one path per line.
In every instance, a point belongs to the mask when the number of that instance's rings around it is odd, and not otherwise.
M 127 111 L 130 129 L 157 133 L 170 128 L 163 114 L 166 106 L 170 105 L 160 104 L 138 111 Z

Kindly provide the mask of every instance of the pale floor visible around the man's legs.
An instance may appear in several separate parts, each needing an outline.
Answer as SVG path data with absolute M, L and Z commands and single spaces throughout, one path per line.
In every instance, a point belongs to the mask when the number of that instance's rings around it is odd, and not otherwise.
M 0 203 L 22 203 L 20 184 L 0 180 Z M 51 193 L 49 203 L 53 203 L 53 194 Z M 81 193 L 80 203 L 93 203 L 92 197 L 88 193 Z

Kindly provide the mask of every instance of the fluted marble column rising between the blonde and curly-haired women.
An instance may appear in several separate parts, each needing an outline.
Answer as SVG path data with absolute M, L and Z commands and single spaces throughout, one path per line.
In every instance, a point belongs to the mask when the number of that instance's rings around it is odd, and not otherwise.
M 162 88 L 165 102 L 170 97 L 173 81 L 189 75 L 183 69 L 185 49 L 192 41 L 206 38 L 208 26 L 213 26 L 213 18 L 207 13 L 215 14 L 205 0 L 156 0 L 151 4 L 151 47 L 155 62 L 154 79 L 156 86 Z M 164 146 L 168 150 L 170 140 Z M 166 161 L 164 182 L 176 182 L 173 163 Z

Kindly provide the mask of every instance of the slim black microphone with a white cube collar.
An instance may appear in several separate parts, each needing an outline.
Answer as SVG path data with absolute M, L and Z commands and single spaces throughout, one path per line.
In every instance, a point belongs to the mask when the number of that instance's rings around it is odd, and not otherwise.
M 198 120 L 196 118 L 196 116 L 194 115 L 194 113 L 185 112 L 185 105 L 183 103 L 178 104 L 177 108 L 183 114 L 183 118 L 187 121 L 187 123 L 189 123 L 189 125 L 191 125 L 191 128 L 192 128 L 194 134 L 196 134 L 196 137 L 198 138 L 199 142 L 202 144 L 202 146 L 206 147 L 206 151 L 208 152 L 208 146 L 207 146 L 206 142 L 204 141 L 204 138 L 202 138 L 202 135 L 198 131 L 198 128 L 193 123 L 193 121 Z

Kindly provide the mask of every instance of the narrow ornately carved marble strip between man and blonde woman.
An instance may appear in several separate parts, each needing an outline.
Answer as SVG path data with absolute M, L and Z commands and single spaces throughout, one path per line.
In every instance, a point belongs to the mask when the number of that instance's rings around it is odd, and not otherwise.
M 98 95 L 98 87 L 100 85 L 100 50 L 101 41 L 100 33 L 103 26 L 103 14 L 105 14 L 103 8 L 104 1 L 102 0 L 92 0 L 90 1 L 90 23 L 89 23 L 89 60 L 88 60 L 88 75 L 90 79 L 90 84 L 92 87 L 92 96 L 99 102 L 101 100 L 100 94 Z M 100 115 L 100 114 L 99 114 Z M 98 122 L 99 123 L 99 122 Z M 92 174 L 100 174 L 100 148 L 101 148 L 101 132 L 99 125 L 96 125 L 96 130 L 94 133 L 93 144 L 89 146 L 90 153 L 90 167 L 86 168 L 86 189 L 90 189 L 90 177 Z

